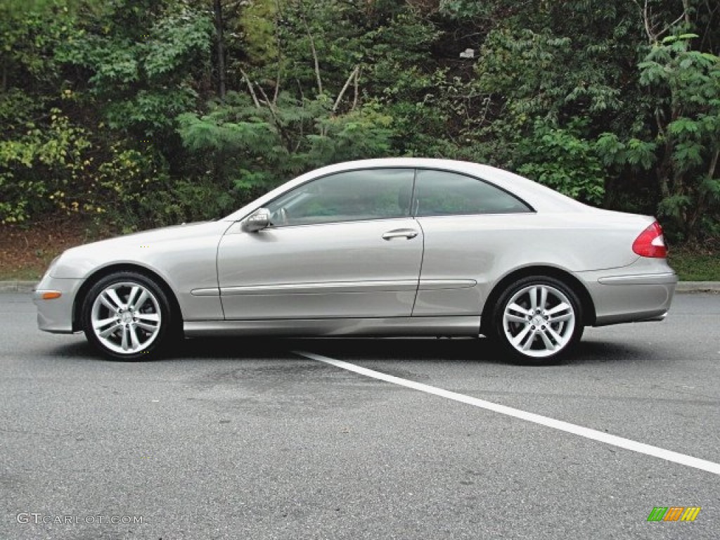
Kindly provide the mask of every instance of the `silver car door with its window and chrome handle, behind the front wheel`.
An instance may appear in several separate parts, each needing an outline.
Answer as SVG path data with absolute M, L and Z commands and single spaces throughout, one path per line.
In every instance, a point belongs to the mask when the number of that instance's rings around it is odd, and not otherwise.
M 423 257 L 413 181 L 408 168 L 323 176 L 267 204 L 268 228 L 235 224 L 217 254 L 225 318 L 410 316 Z

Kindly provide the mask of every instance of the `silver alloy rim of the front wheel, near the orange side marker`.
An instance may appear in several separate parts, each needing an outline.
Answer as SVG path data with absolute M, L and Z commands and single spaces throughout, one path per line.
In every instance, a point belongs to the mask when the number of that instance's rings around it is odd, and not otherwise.
M 90 321 L 103 346 L 119 354 L 135 354 L 158 337 L 162 315 L 158 299 L 146 287 L 121 282 L 97 295 Z

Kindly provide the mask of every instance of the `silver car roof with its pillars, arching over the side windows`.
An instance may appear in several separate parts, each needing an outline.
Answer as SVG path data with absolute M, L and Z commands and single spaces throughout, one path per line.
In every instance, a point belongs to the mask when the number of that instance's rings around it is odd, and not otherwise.
M 570 197 L 566 197 L 553 189 L 538 184 L 534 181 L 519 176 L 518 174 L 504 171 L 501 168 L 483 165 L 481 163 L 472 163 L 470 161 L 456 161 L 450 159 L 437 158 L 377 158 L 364 159 L 359 161 L 345 161 L 343 163 L 335 163 L 322 168 L 317 168 L 307 172 L 297 178 L 282 184 L 273 189 L 271 192 L 264 194 L 255 201 L 240 208 L 225 220 L 237 221 L 246 217 L 267 202 L 270 202 L 279 194 L 292 189 L 294 186 L 300 186 L 305 182 L 328 174 L 335 174 L 343 171 L 354 171 L 358 169 L 368 168 L 426 168 L 439 171 L 449 171 L 459 174 L 466 174 L 476 178 L 495 184 L 501 189 L 515 194 L 538 212 L 583 212 L 590 210 L 585 204 L 575 201 Z

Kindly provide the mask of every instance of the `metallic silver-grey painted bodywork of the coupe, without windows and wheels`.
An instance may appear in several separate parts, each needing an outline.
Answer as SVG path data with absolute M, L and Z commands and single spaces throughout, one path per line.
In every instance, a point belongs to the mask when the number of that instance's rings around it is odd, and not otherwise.
M 307 181 L 360 168 L 431 168 L 483 179 L 534 212 L 328 222 L 243 230 L 243 220 Z M 134 267 L 174 295 L 187 336 L 477 335 L 485 301 L 516 272 L 552 269 L 580 284 L 596 325 L 657 320 L 677 277 L 631 249 L 652 217 L 598 210 L 520 176 L 445 160 L 383 159 L 312 171 L 215 222 L 72 248 L 38 284 L 38 326 L 79 330 L 86 280 Z M 42 292 L 62 296 L 42 300 Z

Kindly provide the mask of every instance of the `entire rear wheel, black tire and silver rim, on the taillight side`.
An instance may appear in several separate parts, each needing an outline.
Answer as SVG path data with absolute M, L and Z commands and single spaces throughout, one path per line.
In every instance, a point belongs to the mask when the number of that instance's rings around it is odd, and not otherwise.
M 582 321 L 582 303 L 572 287 L 553 277 L 528 276 L 500 294 L 487 337 L 517 364 L 558 364 L 582 338 Z

